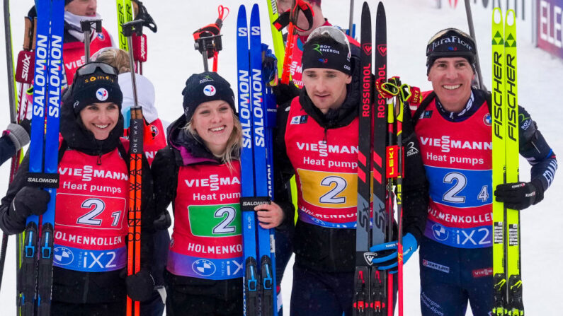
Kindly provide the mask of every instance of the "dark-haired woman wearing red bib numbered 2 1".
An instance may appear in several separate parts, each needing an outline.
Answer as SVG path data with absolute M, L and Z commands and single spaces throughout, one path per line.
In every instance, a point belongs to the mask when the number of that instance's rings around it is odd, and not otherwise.
M 126 295 L 147 300 L 154 201 L 147 160 L 142 170 L 141 271 L 125 277 L 129 201 L 128 142 L 117 70 L 90 63 L 63 95 L 59 188 L 55 205 L 52 315 L 123 315 Z M 31 214 L 47 210 L 47 192 L 25 185 L 29 156 L 1 200 L 0 228 L 21 233 Z

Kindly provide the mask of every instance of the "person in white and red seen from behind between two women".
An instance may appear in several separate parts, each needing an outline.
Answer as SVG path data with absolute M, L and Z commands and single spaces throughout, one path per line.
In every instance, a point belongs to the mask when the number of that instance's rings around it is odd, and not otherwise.
M 118 69 L 119 86 L 123 93 L 121 112 L 125 117 L 125 135 L 129 135 L 129 120 L 131 107 L 134 105 L 133 86 L 131 83 L 131 66 L 129 54 L 123 49 L 106 47 L 93 54 L 92 60 L 105 62 Z M 162 123 L 158 118 L 157 108 L 154 107 L 154 86 L 149 79 L 140 74 L 135 74 L 137 83 L 137 102 L 142 107 L 144 117 L 143 151 L 149 165 L 152 164 L 157 151 L 166 146 L 166 137 Z M 154 256 L 152 262 L 152 275 L 154 276 L 155 290 L 152 299 L 141 304 L 143 315 L 158 316 L 164 312 L 166 290 L 164 289 L 164 268 L 168 258 L 168 244 L 170 235 L 168 230 L 157 230 L 154 233 Z M 161 294 L 159 294 L 161 293 Z

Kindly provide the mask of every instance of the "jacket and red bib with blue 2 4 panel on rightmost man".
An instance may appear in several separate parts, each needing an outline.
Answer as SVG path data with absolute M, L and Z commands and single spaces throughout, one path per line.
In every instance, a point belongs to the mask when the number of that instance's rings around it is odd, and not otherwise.
M 424 235 L 452 247 L 491 247 L 490 95 L 473 90 L 462 119 L 450 117 L 437 105 L 435 96 L 426 93 L 415 112 L 416 135 L 431 184 Z M 519 111 L 520 153 L 532 165 L 532 181 L 543 192 L 552 182 L 557 160 L 528 112 L 523 107 Z M 538 201 L 542 197 L 540 194 Z

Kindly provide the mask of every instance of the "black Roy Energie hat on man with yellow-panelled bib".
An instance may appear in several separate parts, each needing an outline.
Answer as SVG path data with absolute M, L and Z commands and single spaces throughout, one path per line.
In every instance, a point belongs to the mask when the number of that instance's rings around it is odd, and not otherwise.
M 341 32 L 341 31 L 339 31 Z M 309 68 L 326 68 L 342 71 L 344 74 L 352 74 L 348 46 L 335 40 L 328 33 L 317 36 L 309 36 L 303 46 L 302 65 L 303 70 Z

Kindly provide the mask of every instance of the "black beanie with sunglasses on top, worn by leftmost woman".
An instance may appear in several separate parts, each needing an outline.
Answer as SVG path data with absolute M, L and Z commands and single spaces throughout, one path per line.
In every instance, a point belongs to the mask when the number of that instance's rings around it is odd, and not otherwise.
M 93 103 L 113 102 L 121 110 L 123 93 L 121 93 L 117 75 L 106 74 L 99 67 L 96 67 L 92 74 L 84 76 L 80 76 L 79 71 L 80 69 L 76 71 L 68 99 L 72 104 L 74 114 L 77 115 L 84 107 Z M 117 74 L 117 70 L 115 74 Z

